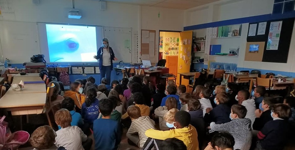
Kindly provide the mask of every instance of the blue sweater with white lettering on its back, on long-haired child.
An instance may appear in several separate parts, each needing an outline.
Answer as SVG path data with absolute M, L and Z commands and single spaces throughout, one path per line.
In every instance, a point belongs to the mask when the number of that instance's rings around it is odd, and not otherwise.
M 98 102 L 99 101 L 97 98 L 95 99 L 96 100 L 88 107 L 86 106 L 86 103 L 82 104 L 81 115 L 85 123 L 93 124 L 93 121 L 98 118 L 98 115 L 99 115 Z

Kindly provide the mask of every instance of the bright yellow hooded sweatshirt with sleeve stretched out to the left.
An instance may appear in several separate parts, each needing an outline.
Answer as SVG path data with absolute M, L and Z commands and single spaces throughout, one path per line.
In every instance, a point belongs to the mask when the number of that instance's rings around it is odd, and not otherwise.
M 188 125 L 181 129 L 170 129 L 168 131 L 160 131 L 148 129 L 145 135 L 149 138 L 165 140 L 167 138 L 177 138 L 187 146 L 187 150 L 199 150 L 198 134 L 195 127 Z

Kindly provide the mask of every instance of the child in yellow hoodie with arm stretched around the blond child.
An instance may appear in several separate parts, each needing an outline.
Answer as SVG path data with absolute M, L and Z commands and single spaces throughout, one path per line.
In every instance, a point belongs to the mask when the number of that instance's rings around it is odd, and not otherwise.
M 145 132 L 145 135 L 149 138 L 158 140 L 177 138 L 183 141 L 183 143 L 187 146 L 187 150 L 199 150 L 197 130 L 195 127 L 189 124 L 190 120 L 191 117 L 189 113 L 181 110 L 176 112 L 174 116 L 174 121 L 172 124 L 175 129 L 168 131 L 148 129 Z

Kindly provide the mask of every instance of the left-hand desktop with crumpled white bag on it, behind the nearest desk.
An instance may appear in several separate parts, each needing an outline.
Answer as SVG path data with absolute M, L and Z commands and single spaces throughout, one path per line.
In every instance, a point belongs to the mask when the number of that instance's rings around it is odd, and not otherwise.
M 14 91 L 12 88 L 9 88 L 5 94 L 23 94 L 23 93 L 46 93 L 46 85 L 44 83 L 36 84 L 25 84 L 22 91 Z

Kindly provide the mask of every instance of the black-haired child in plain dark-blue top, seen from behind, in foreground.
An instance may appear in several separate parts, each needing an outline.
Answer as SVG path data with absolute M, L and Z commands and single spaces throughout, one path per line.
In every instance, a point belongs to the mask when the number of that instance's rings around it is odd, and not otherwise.
M 118 121 L 112 120 L 113 103 L 110 99 L 99 101 L 99 112 L 102 118 L 93 122 L 93 137 L 95 149 L 117 150 L 121 141 Z

